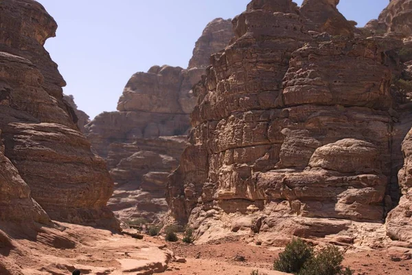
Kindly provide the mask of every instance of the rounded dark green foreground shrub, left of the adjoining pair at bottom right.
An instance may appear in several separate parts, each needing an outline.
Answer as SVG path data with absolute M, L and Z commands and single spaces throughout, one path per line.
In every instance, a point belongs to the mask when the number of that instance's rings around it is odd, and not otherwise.
M 301 239 L 293 239 L 286 245 L 285 251 L 273 263 L 273 268 L 280 272 L 297 274 L 306 261 L 313 256 L 313 248 Z

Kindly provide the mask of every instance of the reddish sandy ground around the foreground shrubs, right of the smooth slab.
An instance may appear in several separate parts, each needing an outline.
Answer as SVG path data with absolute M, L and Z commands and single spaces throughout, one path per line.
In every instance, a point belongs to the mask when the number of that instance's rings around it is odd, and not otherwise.
M 179 236 L 181 239 L 182 236 Z M 203 244 L 166 243 L 162 237 L 144 236 L 144 240 L 157 245 L 167 245 L 176 258 L 184 258 L 185 263 L 171 262 L 165 274 L 250 274 L 259 270 L 260 274 L 282 274 L 272 270 L 273 261 L 284 248 L 267 247 L 249 243 L 247 238 L 232 236 Z M 345 250 L 343 265 L 350 267 L 358 275 L 408 274 L 412 261 L 398 259 L 393 250 Z M 239 258 L 244 257 L 244 261 Z

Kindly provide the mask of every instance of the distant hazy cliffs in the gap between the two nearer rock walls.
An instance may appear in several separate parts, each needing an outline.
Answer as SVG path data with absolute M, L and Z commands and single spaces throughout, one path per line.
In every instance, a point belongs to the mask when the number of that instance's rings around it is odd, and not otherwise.
M 165 185 L 185 148 L 197 100 L 192 86 L 205 74 L 209 56 L 232 36 L 231 21 L 211 21 L 187 69 L 153 66 L 134 74 L 119 98 L 118 111 L 101 113 L 86 126 L 87 138 L 115 180 L 109 206 L 122 219 L 159 221 L 168 211 Z

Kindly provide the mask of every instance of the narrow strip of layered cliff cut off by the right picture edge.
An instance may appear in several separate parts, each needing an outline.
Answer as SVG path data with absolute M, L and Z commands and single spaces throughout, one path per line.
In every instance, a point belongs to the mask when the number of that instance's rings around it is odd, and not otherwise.
M 398 112 L 396 124 L 393 125 L 392 151 L 396 152 L 396 158 L 392 159 L 392 170 L 396 173 L 399 170 L 398 177 L 392 179 L 396 181 L 398 192 L 400 190 L 400 201 L 396 203 L 395 209 L 389 212 L 386 219 L 386 228 L 388 236 L 398 245 L 410 247 L 412 243 L 412 199 L 411 199 L 411 102 L 412 102 L 412 1 L 410 0 L 392 0 L 385 10 L 382 11 L 377 20 L 372 20 L 365 26 L 366 30 L 374 34 L 383 34 L 385 41 L 391 42 L 389 45 L 389 55 L 395 63 L 400 62 L 397 70 L 393 70 L 392 95 L 395 98 L 394 108 Z M 389 37 L 392 39 L 388 39 Z M 403 39 L 403 40 L 401 40 Z M 396 49 L 396 54 L 393 54 Z M 387 52 L 388 53 L 388 52 Z M 393 62 L 391 65 L 393 69 Z M 406 136 L 406 137 L 405 137 Z M 402 142 L 402 144 L 401 144 Z M 403 155 L 398 152 L 402 151 Z M 396 201 L 398 202 L 398 201 Z

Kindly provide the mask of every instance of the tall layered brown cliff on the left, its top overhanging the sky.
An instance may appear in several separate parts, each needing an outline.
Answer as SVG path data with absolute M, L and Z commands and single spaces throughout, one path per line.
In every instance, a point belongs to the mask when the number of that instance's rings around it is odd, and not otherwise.
M 32 0 L 1 1 L 0 21 L 0 201 L 13 209 L 2 216 L 117 228 L 106 208 L 113 181 L 78 131 L 65 81 L 43 47 L 56 22 Z

